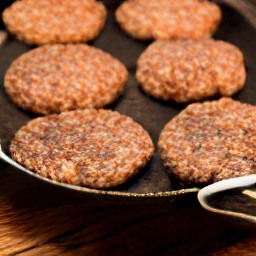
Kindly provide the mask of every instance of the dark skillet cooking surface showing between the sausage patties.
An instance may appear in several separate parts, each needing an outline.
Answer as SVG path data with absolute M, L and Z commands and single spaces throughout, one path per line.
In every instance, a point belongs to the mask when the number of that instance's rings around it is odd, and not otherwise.
M 139 122 L 149 132 L 156 149 L 158 136 L 164 125 L 184 109 L 186 105 L 155 100 L 139 89 L 135 80 L 136 61 L 150 42 L 136 41 L 121 31 L 114 18 L 114 11 L 120 2 L 105 2 L 108 8 L 105 28 L 100 36 L 90 44 L 111 53 L 127 66 L 130 75 L 126 88 L 119 100 L 109 108 L 131 116 Z M 246 86 L 233 98 L 256 105 L 256 30 L 238 11 L 224 4 L 221 5 L 221 9 L 223 19 L 214 38 L 228 41 L 238 46 L 244 53 L 247 67 Z M 8 41 L 0 47 L 0 138 L 4 151 L 8 151 L 10 141 L 15 132 L 29 120 L 37 117 L 16 107 L 3 88 L 3 77 L 12 61 L 32 48 L 12 37 L 9 37 Z M 15 170 L 20 172 L 16 168 Z M 90 192 L 90 190 L 88 191 Z M 171 196 L 183 194 L 190 190 L 184 184 L 168 175 L 155 150 L 153 159 L 148 166 L 126 184 L 107 193 L 113 194 L 112 191 L 115 191 L 114 194 L 116 192 L 121 192 L 121 194 L 125 192 L 129 196 L 136 196 L 137 194 L 147 196 L 147 193 L 167 192 L 165 196 Z M 97 191 L 91 192 L 97 193 Z M 98 192 L 102 193 L 101 191 Z M 161 196 L 161 193 L 158 195 Z

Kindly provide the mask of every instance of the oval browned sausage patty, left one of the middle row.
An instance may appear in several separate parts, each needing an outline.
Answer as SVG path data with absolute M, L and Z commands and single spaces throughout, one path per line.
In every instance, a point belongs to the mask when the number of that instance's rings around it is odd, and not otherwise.
M 4 86 L 23 109 L 49 114 L 110 104 L 127 77 L 122 63 L 92 46 L 48 45 L 16 59 Z

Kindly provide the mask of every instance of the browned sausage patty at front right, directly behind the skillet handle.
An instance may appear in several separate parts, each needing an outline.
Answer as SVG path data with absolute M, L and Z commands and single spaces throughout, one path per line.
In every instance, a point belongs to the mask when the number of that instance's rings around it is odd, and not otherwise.
M 222 98 L 194 103 L 161 132 L 159 155 L 187 183 L 256 173 L 256 107 Z

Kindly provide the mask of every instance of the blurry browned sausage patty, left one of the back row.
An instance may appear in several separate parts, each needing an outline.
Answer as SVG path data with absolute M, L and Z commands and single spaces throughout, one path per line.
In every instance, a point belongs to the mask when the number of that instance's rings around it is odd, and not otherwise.
M 95 0 L 21 0 L 3 12 L 7 29 L 28 44 L 87 42 L 102 30 L 104 5 Z

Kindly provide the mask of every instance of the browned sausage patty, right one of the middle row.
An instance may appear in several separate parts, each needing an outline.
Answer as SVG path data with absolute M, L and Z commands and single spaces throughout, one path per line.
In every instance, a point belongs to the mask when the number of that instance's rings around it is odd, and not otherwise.
M 158 99 L 191 102 L 230 96 L 245 83 L 241 51 L 223 41 L 156 41 L 140 56 L 136 73 L 143 90 Z

